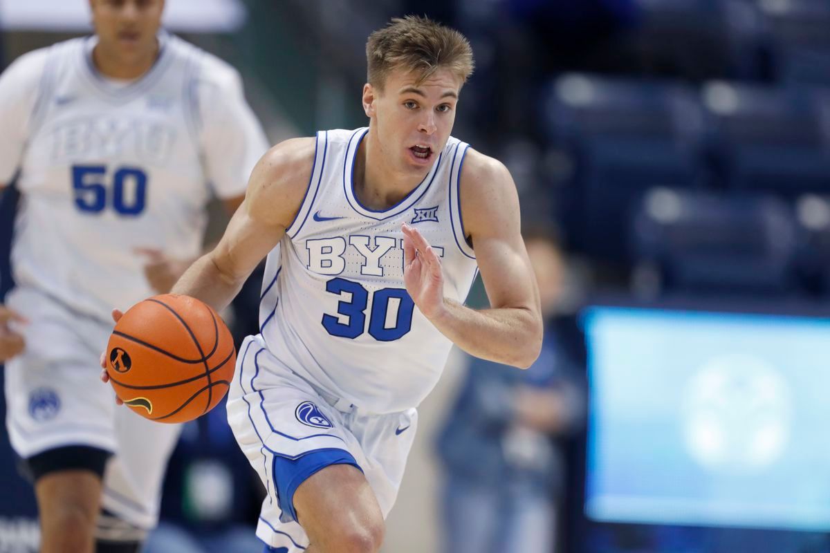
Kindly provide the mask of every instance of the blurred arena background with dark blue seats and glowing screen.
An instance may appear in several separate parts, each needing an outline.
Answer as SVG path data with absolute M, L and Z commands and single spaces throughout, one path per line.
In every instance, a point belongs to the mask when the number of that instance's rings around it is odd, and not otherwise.
M 366 36 L 407 13 L 470 38 L 453 134 L 510 168 L 525 227 L 564 251 L 549 332 L 587 403 L 545 436 L 555 551 L 830 551 L 830 2 L 167 0 L 166 17 L 242 72 L 276 143 L 364 124 Z M 0 0 L 2 66 L 88 20 L 85 0 Z M 466 424 L 469 363 L 453 355 L 420 408 L 383 551 L 442 551 L 439 434 Z M 223 415 L 185 430 L 163 509 L 214 543 L 252 535 L 261 497 Z M 36 551 L 3 440 L 0 553 Z

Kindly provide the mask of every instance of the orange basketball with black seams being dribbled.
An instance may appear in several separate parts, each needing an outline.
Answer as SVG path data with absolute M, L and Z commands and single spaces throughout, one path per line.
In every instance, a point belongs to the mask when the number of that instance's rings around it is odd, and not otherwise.
M 181 423 L 222 400 L 237 352 L 207 303 L 165 293 L 124 313 L 106 355 L 110 383 L 125 405 L 149 420 Z

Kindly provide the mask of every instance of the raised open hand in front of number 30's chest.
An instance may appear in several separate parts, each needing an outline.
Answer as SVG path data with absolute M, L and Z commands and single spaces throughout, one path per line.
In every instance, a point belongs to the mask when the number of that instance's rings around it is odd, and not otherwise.
M 426 318 L 444 307 L 444 274 L 441 258 L 421 232 L 403 223 L 403 281 L 409 296 Z

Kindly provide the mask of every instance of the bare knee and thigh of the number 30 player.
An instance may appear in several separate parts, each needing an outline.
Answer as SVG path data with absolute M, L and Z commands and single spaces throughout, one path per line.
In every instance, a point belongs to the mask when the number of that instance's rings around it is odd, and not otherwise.
M 321 469 L 294 493 L 294 508 L 311 553 L 374 553 L 383 543 L 383 512 L 358 468 Z

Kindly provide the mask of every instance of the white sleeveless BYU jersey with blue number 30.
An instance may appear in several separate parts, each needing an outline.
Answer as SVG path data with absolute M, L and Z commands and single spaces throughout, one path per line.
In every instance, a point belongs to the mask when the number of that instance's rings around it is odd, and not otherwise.
M 308 192 L 268 255 L 260 331 L 291 371 L 364 410 L 391 413 L 420 404 L 452 347 L 406 292 L 401 224 L 415 226 L 441 256 L 444 294 L 463 302 L 476 276 L 458 202 L 469 146 L 450 138 L 413 192 L 374 211 L 352 182 L 367 132 L 317 133 Z

